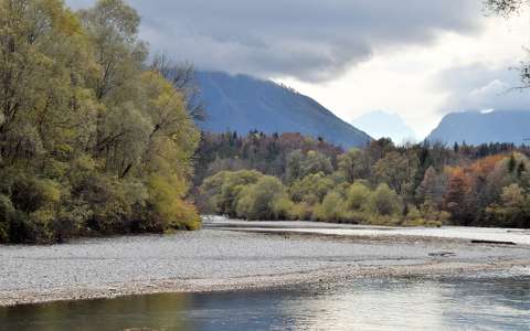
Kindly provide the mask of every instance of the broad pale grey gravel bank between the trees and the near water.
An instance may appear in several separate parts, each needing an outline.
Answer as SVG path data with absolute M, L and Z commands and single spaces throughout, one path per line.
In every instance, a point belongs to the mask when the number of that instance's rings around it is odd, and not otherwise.
M 206 222 L 205 227 L 168 236 L 83 239 L 60 246 L 0 246 L 0 306 L 356 277 L 437 277 L 530 266 L 530 246 L 524 244 L 389 235 L 384 228 L 371 229 L 386 231 L 384 236 L 329 236 L 278 227 L 266 232 L 227 228 L 218 222 Z

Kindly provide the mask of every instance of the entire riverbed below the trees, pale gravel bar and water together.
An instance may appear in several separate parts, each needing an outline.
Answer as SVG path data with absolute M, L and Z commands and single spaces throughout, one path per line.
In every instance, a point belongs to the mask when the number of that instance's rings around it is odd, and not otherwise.
M 173 292 L 0 307 L 0 331 L 530 330 L 528 231 L 204 225 L 0 246 L 0 306 Z

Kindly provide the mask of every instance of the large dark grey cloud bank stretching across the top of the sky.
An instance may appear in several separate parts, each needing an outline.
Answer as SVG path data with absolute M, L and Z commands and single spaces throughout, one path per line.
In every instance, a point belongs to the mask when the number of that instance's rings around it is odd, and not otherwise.
M 91 0 L 67 0 L 74 8 Z M 473 33 L 481 0 L 130 0 L 155 50 L 200 68 L 322 82 L 379 52 Z

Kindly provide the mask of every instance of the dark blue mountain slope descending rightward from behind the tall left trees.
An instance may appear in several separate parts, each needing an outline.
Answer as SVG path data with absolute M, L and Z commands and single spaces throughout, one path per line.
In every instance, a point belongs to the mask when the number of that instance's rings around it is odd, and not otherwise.
M 197 79 L 206 108 L 203 130 L 300 132 L 344 148 L 371 140 L 314 99 L 274 82 L 219 72 L 198 72 Z

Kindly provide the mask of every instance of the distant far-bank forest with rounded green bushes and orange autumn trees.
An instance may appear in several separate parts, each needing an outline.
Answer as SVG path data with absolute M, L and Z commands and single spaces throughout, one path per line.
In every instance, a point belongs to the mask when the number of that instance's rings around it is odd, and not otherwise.
M 342 151 L 299 135 L 234 132 L 201 141 L 204 213 L 246 220 L 530 227 L 530 148 L 511 143 Z

